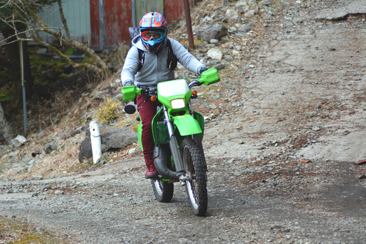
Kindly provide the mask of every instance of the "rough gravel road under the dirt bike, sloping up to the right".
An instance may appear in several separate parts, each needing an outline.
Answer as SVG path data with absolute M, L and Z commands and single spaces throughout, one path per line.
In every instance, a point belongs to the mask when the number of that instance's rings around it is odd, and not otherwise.
M 226 65 L 223 109 L 198 103 L 216 114 L 205 217 L 179 184 L 170 203 L 155 200 L 141 152 L 80 175 L 1 181 L 1 215 L 73 243 L 365 243 L 366 167 L 354 164 L 366 159 L 365 1 L 281 2 L 257 58 Z

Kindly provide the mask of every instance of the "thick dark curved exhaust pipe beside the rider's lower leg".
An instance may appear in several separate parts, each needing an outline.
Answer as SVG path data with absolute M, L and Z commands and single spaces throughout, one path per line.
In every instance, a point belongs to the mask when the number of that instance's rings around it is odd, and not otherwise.
M 159 174 L 164 178 L 171 180 L 179 180 L 179 175 L 177 172 L 171 171 L 167 163 L 170 163 L 170 158 L 168 157 L 168 149 L 169 144 L 160 144 L 159 146 L 155 146 L 154 149 L 154 164 L 156 170 L 158 170 Z

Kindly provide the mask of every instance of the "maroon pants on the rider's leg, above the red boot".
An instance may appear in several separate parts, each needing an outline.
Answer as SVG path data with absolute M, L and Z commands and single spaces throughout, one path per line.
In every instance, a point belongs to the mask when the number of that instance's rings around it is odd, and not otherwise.
M 145 98 L 146 98 L 145 95 L 137 96 L 137 106 L 142 107 L 143 105 L 142 108 L 138 109 L 142 121 L 141 141 L 142 141 L 143 155 L 152 156 L 155 144 L 154 144 L 154 138 L 152 136 L 151 122 L 156 114 L 156 109 L 158 105 L 152 103 L 150 100 L 143 103 L 145 101 Z

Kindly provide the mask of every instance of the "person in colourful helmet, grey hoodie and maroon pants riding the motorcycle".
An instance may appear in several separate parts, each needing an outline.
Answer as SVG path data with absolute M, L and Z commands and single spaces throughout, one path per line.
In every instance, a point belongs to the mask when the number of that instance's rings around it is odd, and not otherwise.
M 132 46 L 127 53 L 121 72 L 123 86 L 135 85 L 138 87 L 142 84 L 156 86 L 162 81 L 175 80 L 174 70 L 170 69 L 170 64 L 167 63 L 170 54 L 166 45 L 168 29 L 165 18 L 158 12 L 150 12 L 142 17 L 139 26 L 140 35 L 132 40 Z M 207 70 L 182 44 L 170 38 L 169 41 L 172 49 L 170 52 L 186 69 L 199 75 Z M 142 57 L 144 60 L 142 61 L 140 59 L 141 54 L 139 54 L 141 51 L 138 49 L 143 51 Z M 156 114 L 157 104 L 152 103 L 150 100 L 144 102 L 145 97 L 146 95 L 137 96 L 137 106 L 142 120 L 141 141 L 143 157 L 147 167 L 145 178 L 153 179 L 158 176 L 158 172 L 155 169 L 153 159 L 155 144 L 151 122 Z

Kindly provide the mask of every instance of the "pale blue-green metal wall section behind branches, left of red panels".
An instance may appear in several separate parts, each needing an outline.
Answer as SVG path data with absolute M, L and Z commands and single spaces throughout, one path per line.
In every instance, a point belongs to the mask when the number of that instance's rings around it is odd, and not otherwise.
M 49 26 L 61 27 L 61 17 L 57 2 L 38 16 Z M 87 42 L 90 30 L 90 5 L 89 0 L 62 1 L 63 14 L 67 20 L 70 36 L 81 42 Z M 63 31 L 65 35 L 65 32 Z M 48 36 L 46 32 L 40 32 L 40 36 Z M 83 39 L 83 40 L 82 40 Z

